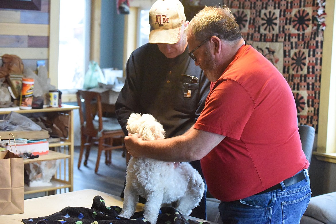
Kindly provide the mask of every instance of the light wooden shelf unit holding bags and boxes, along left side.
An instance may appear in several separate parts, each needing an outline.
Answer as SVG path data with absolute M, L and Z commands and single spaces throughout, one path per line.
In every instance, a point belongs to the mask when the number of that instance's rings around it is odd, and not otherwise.
M 34 117 L 35 115 L 47 116 L 49 113 L 65 113 L 70 115 L 69 136 L 67 139 L 61 139 L 59 142 L 49 143 L 49 153 L 47 155 L 40 155 L 39 158 L 25 159 L 24 164 L 35 163 L 40 161 L 60 160 L 59 166 L 55 175 L 51 179 L 51 186 L 29 187 L 24 186 L 25 194 L 46 192 L 46 194 L 56 193 L 56 190 L 66 189 L 73 191 L 73 162 L 74 162 L 74 109 L 78 106 L 62 104 L 62 107 L 47 107 L 42 109 L 30 110 L 15 110 L 14 112 L 23 114 L 27 117 Z M 0 115 L 10 114 L 11 111 L 0 111 Z M 50 115 L 50 114 L 49 114 Z M 53 149 L 53 150 L 51 150 Z

